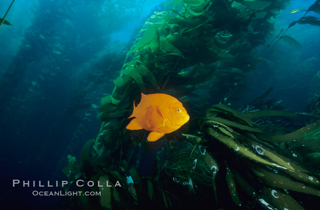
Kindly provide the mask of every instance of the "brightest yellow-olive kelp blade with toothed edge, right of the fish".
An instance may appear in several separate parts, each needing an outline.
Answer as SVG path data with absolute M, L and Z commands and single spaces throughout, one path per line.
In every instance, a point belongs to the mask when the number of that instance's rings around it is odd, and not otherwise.
M 250 148 L 247 148 L 243 144 L 240 144 L 239 142 L 236 142 L 235 140 L 233 140 L 232 137 L 224 136 L 224 135 L 220 134 L 219 132 L 213 130 L 212 128 L 206 128 L 205 131 L 206 131 L 206 133 L 208 133 L 212 137 L 218 139 L 220 142 L 225 144 L 227 147 L 233 149 L 234 152 L 236 152 L 238 154 L 241 154 L 244 157 L 247 157 L 247 158 L 249 158 L 251 160 L 254 160 L 254 161 L 258 162 L 258 163 L 262 163 L 262 164 L 265 164 L 265 165 L 268 165 L 268 166 L 288 169 L 286 167 L 279 166 L 276 163 L 269 162 L 268 160 L 257 156 L 254 152 L 252 152 L 250 150 Z

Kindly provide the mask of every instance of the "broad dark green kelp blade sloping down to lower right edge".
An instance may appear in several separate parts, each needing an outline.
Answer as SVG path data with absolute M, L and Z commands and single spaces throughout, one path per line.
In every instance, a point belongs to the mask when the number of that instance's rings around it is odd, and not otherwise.
M 292 190 L 297 192 L 303 192 L 310 195 L 315 195 L 320 197 L 320 191 L 317 189 L 314 189 L 312 187 L 308 187 L 307 185 L 304 185 L 299 182 L 292 181 L 291 179 L 283 176 L 278 175 L 275 172 L 267 171 L 262 168 L 254 168 L 252 169 L 253 172 L 260 177 L 261 180 L 263 180 L 264 183 L 272 186 L 281 188 L 284 190 Z

